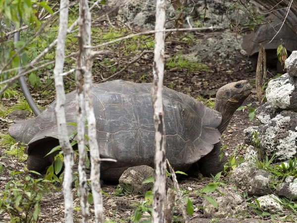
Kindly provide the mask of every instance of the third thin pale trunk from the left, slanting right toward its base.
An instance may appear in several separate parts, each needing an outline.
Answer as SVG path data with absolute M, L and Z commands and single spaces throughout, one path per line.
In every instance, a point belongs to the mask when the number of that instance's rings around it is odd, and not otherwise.
M 82 12 L 84 14 L 84 47 L 86 51 L 86 64 L 85 64 L 85 109 L 88 120 L 88 136 L 91 154 L 91 187 L 95 206 L 95 222 L 103 223 L 103 204 L 100 185 L 100 157 L 99 147 L 97 142 L 96 118 L 93 108 L 93 95 L 92 95 L 92 66 L 93 66 L 93 53 L 91 50 L 91 12 L 87 0 L 80 0 L 83 5 Z

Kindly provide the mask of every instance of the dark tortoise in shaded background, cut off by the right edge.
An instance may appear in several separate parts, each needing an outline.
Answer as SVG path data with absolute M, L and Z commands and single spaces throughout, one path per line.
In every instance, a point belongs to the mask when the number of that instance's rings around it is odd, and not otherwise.
M 290 14 L 291 17 L 288 17 L 288 19 L 297 19 L 296 15 Z M 284 66 L 281 65 L 277 58 L 277 48 L 284 43 L 288 56 L 290 56 L 297 49 L 297 35 L 286 24 L 282 26 L 282 21 L 274 14 L 267 16 L 265 21 L 267 24 L 261 25 L 257 31 L 243 37 L 242 48 L 251 56 L 252 65 L 255 69 L 259 54 L 259 44 L 262 44 L 266 52 L 267 66 L 276 66 L 279 73 L 284 73 Z M 279 31 L 279 29 L 281 30 Z M 278 31 L 279 33 L 277 34 Z

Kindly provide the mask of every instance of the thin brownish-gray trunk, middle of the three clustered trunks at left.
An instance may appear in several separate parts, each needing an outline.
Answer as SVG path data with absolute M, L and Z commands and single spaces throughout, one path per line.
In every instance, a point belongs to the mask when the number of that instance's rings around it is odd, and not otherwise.
M 85 30 L 85 1 L 79 2 L 79 52 L 76 67 L 76 101 L 77 101 L 77 141 L 79 150 L 79 189 L 80 204 L 82 209 L 82 223 L 88 223 L 89 219 L 89 203 L 88 203 L 88 184 L 86 174 L 87 151 L 85 148 L 85 116 L 84 116 L 84 92 L 83 92 L 83 74 L 84 74 L 84 58 L 85 48 L 88 43 L 88 30 Z

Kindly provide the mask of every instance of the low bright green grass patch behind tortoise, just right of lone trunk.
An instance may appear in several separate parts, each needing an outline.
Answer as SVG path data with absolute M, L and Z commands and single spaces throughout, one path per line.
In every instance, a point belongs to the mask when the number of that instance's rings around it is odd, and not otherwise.
M 188 71 L 196 71 L 199 72 L 201 70 L 208 70 L 208 67 L 203 63 L 197 63 L 194 61 L 190 61 L 185 59 L 182 56 L 182 53 L 179 52 L 175 56 L 173 56 L 167 63 L 167 67 L 171 68 L 179 68 L 179 69 L 187 69 Z

